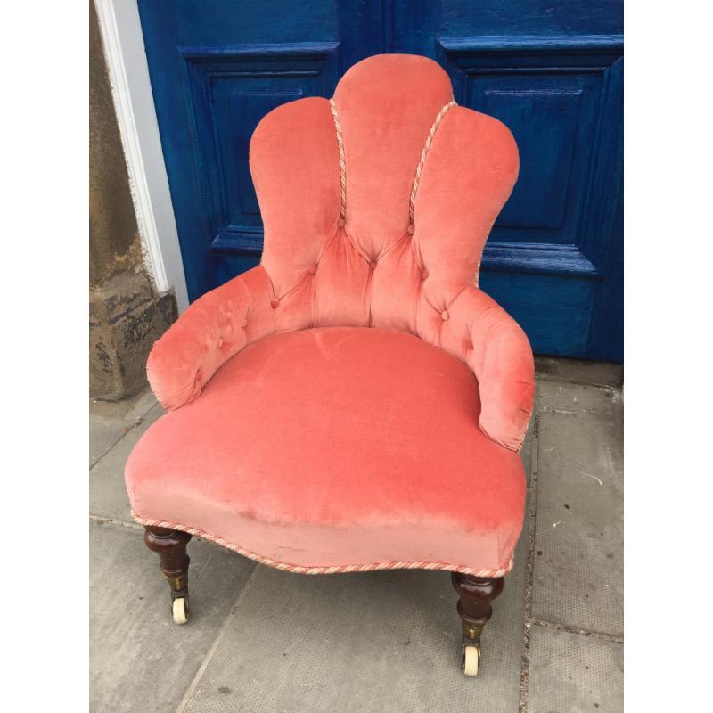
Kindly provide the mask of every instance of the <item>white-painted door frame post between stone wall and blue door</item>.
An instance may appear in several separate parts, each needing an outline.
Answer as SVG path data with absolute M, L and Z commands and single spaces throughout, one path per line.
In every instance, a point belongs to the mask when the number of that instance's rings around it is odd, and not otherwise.
M 180 313 L 188 307 L 188 292 L 138 5 L 136 0 L 94 0 L 94 5 L 141 234 L 143 264 L 157 291 L 174 291 Z

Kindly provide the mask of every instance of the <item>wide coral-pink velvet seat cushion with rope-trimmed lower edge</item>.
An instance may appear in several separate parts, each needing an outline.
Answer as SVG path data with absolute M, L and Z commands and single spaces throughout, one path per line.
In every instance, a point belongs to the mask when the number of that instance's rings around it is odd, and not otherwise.
M 498 576 L 520 535 L 525 478 L 478 418 L 471 370 L 411 334 L 283 332 L 155 422 L 127 488 L 143 524 L 283 569 Z

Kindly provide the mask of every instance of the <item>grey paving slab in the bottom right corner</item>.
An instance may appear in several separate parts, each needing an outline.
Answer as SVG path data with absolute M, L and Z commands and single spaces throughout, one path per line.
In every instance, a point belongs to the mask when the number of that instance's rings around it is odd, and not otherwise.
M 533 626 L 528 713 L 622 711 L 623 649 L 621 643 Z

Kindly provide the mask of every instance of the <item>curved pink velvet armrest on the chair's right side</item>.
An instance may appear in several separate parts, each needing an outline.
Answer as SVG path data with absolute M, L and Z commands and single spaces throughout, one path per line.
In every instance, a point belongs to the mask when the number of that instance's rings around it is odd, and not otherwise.
M 471 287 L 464 297 L 460 307 L 472 345 L 465 361 L 478 380 L 480 430 L 518 452 L 535 398 L 532 348 L 520 324 L 485 292 Z

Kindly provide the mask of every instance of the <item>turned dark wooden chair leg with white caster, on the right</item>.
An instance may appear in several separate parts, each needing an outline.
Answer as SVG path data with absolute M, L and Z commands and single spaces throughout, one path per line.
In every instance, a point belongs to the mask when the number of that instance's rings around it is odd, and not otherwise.
M 480 634 L 493 615 L 492 602 L 503 591 L 505 580 L 453 572 L 451 581 L 458 593 L 458 614 L 463 623 L 463 673 L 477 676 Z

